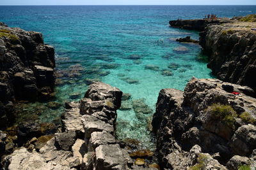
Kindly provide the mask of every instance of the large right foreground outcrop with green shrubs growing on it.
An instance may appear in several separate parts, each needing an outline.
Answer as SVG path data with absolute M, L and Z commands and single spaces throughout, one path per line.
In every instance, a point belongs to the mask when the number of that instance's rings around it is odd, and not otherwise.
M 256 127 L 249 120 L 255 119 L 256 99 L 246 96 L 248 90 L 252 89 L 196 78 L 184 92 L 161 90 L 152 120 L 161 168 L 232 169 L 236 155 L 246 157 L 241 162 L 252 164 L 249 157 L 256 148 Z

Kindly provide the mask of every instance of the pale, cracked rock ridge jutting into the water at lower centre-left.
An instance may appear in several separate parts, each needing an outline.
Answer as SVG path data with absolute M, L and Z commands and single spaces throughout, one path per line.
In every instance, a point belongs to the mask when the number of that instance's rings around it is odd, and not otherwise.
M 20 148 L 4 159 L 6 169 L 144 169 L 115 138 L 122 91 L 93 82 L 79 103 L 66 103 L 61 131 L 37 151 Z M 31 132 L 34 128 L 31 128 Z M 1 134 L 2 139 L 2 134 Z M 4 145 L 4 134 L 3 134 Z M 33 139 L 31 145 L 35 145 Z M 35 146 L 32 146 L 32 148 Z M 145 169 L 155 169 L 154 167 Z

